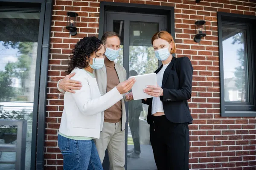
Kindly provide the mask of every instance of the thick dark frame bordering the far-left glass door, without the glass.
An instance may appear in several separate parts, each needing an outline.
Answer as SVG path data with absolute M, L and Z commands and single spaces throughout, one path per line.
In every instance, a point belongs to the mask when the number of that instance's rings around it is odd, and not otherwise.
M 47 95 L 47 72 L 49 42 L 52 21 L 52 0 L 0 0 L 8 3 L 40 3 L 40 25 L 38 29 L 38 50 L 35 70 L 35 90 L 32 122 L 31 170 L 44 170 L 44 124 Z M 20 11 L 20 6 L 1 8 L 0 10 Z M 26 11 L 27 8 L 24 8 Z M 23 10 L 23 9 L 22 9 Z

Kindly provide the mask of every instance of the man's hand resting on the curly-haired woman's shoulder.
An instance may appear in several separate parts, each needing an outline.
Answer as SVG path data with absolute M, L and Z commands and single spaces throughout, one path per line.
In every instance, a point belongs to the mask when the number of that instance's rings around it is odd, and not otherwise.
M 82 87 L 81 82 L 70 79 L 75 74 L 76 73 L 68 74 L 64 79 L 62 79 L 59 83 L 59 88 L 70 93 L 76 93 L 73 90 L 80 90 Z

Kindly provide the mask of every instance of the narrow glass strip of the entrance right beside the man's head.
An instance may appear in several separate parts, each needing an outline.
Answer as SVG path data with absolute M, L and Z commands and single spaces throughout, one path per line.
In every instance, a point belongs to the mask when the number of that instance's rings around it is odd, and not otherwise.
M 117 62 L 120 65 L 123 65 L 123 58 L 124 58 L 124 28 L 125 28 L 124 21 L 120 21 L 120 20 L 113 21 L 113 31 L 119 34 L 121 39 L 119 56 L 115 59 L 114 62 Z

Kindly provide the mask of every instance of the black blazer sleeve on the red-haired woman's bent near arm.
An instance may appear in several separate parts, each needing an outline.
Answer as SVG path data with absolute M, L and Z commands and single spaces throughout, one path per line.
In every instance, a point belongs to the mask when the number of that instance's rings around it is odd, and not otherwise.
M 179 89 L 163 88 L 162 102 L 189 100 L 192 93 L 193 67 L 188 57 L 179 58 L 177 74 L 179 77 Z

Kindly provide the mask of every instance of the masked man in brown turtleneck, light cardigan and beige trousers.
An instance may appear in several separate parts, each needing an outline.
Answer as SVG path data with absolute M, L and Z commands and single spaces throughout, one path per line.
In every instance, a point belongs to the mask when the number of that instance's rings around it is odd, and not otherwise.
M 119 82 L 126 80 L 126 71 L 121 65 L 113 62 L 119 55 L 120 37 L 115 32 L 106 32 L 102 36 L 102 42 L 105 45 L 105 65 L 102 69 L 95 70 L 95 75 L 99 90 L 102 95 L 106 94 Z M 80 82 L 71 80 L 74 74 L 67 75 L 61 79 L 57 87 L 64 93 L 69 91 L 74 93 L 74 89 L 80 89 Z M 110 170 L 125 170 L 125 103 L 131 100 L 131 94 L 124 95 L 124 98 L 104 112 L 104 124 L 100 138 L 96 139 L 96 147 L 99 157 L 103 162 L 105 150 L 108 149 Z M 100 106 L 99 106 L 100 107 Z

